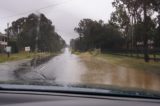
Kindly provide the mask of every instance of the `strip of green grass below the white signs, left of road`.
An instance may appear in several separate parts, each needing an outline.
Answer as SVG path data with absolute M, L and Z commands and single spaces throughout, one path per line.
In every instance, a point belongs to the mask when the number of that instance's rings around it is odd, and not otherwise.
M 0 63 L 6 62 L 6 61 L 15 61 L 15 60 L 22 60 L 22 59 L 31 59 L 34 56 L 49 56 L 51 55 L 50 53 L 26 53 L 26 52 L 21 52 L 17 54 L 11 54 L 10 57 L 7 57 L 7 54 L 0 54 Z

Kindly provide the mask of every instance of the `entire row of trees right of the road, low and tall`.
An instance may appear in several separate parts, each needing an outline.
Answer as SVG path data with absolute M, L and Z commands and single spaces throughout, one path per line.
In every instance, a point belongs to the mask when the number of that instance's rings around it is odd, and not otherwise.
M 135 50 L 141 46 L 148 62 L 149 50 L 160 48 L 160 1 L 114 0 L 112 5 L 115 11 L 108 23 L 80 21 L 75 28 L 79 37 L 71 40 L 72 47 L 85 51 L 94 48 Z

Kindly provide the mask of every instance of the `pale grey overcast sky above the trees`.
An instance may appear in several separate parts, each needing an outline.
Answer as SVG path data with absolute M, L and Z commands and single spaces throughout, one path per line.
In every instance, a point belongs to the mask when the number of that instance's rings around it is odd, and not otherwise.
M 4 33 L 7 22 L 29 15 L 40 9 L 52 20 L 53 25 L 67 43 L 78 35 L 74 28 L 83 18 L 104 20 L 110 18 L 113 0 L 0 0 L 0 32 Z

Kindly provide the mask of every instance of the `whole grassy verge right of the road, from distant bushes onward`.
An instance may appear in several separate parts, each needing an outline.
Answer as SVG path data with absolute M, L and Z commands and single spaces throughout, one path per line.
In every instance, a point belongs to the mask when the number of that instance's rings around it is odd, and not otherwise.
M 78 55 L 84 58 L 92 56 L 92 58 L 98 58 L 98 60 L 102 60 L 103 62 L 106 62 L 106 64 L 110 64 L 113 66 L 123 66 L 126 68 L 132 68 L 134 70 L 160 72 L 160 62 L 150 61 L 149 63 L 146 63 L 144 62 L 143 59 L 137 59 L 133 57 L 126 57 L 126 56 L 113 55 L 113 54 L 94 55 L 91 52 L 78 53 Z

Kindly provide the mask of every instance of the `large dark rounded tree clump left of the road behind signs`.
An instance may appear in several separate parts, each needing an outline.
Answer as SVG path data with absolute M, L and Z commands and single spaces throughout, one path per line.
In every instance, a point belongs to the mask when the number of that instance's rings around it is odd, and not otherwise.
M 55 32 L 51 20 L 44 14 L 19 18 L 12 22 L 6 33 L 13 52 L 24 51 L 25 47 L 30 47 L 32 52 L 36 49 L 40 52 L 57 52 L 66 46 L 65 41 Z

